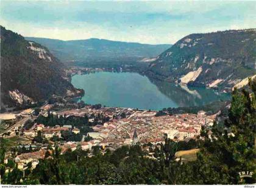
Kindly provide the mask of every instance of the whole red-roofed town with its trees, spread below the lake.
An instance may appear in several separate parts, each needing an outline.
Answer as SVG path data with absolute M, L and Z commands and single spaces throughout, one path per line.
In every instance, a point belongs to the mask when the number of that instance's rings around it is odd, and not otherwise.
M 23 142 L 15 146 L 14 152 L 9 151 L 5 156 L 5 162 L 8 158 L 14 156 L 18 169 L 24 170 L 31 162 L 32 168 L 35 168 L 39 159 L 43 159 L 46 151 L 52 148 L 52 145 L 58 144 L 61 148 L 61 154 L 68 150 L 74 151 L 78 147 L 88 151 L 89 156 L 93 147 L 101 147 L 102 152 L 107 148 L 116 150 L 124 145 L 145 145 L 151 143 L 153 146 L 164 144 L 165 139 L 173 141 L 189 141 L 190 139 L 199 139 L 202 127 L 211 127 L 216 118 L 215 115 L 207 116 L 204 111 L 197 114 L 165 114 L 157 116 L 157 111 L 138 110 L 132 108 L 113 108 L 102 107 L 101 105 L 87 105 L 80 109 L 69 109 L 54 111 L 51 108 L 54 105 L 46 104 L 40 108 L 38 114 L 35 110 L 27 109 L 19 114 L 1 114 L 1 118 L 12 119 L 12 126 L 5 128 L 1 132 L 4 138 L 17 137 Z M 44 125 L 34 122 L 41 118 L 52 116 L 88 118 L 90 130 L 80 133 L 80 129 L 74 125 Z M 101 117 L 101 118 L 99 118 Z M 30 121 L 31 126 L 26 126 Z M 79 129 L 80 128 L 80 129 Z M 80 135 L 79 140 L 62 139 L 64 133 L 71 135 Z M 68 134 L 70 136 L 70 134 Z M 41 141 L 40 141 L 41 139 Z

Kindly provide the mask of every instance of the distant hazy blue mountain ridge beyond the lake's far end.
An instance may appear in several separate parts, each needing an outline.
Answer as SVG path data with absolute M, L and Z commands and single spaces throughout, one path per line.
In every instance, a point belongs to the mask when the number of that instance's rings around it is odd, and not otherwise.
M 87 64 L 119 66 L 122 61 L 134 64 L 143 58 L 155 57 L 171 46 L 171 44 L 141 44 L 98 38 L 68 41 L 35 37 L 26 37 L 26 39 L 48 47 L 52 54 L 65 64 L 79 63 L 82 66 Z

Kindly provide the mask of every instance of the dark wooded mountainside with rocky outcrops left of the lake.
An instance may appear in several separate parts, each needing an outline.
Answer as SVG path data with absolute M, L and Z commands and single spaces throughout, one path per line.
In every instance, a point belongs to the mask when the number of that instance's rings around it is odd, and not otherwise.
M 52 94 L 79 95 L 63 67 L 46 47 L 1 26 L 1 108 L 29 105 Z

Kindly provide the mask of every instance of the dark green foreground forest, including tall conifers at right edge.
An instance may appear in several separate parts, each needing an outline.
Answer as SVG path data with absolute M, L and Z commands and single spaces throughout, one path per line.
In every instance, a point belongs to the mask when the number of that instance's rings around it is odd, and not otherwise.
M 228 118 L 224 125 L 203 128 L 196 145 L 196 161 L 175 160 L 184 149 L 179 142 L 166 140 L 149 158 L 140 145 L 121 147 L 104 155 L 93 147 L 93 156 L 77 147 L 60 155 L 60 149 L 48 152 L 34 170 L 27 168 L 25 177 L 17 165 L 4 164 L 4 140 L 1 141 L 1 177 L 4 184 L 248 184 L 256 182 L 256 80 L 250 89 L 234 90 Z M 209 133 L 209 131 L 211 133 Z M 188 148 L 186 148 L 188 149 Z M 12 172 L 4 173 L 8 167 Z M 252 177 L 240 178 L 240 172 Z

